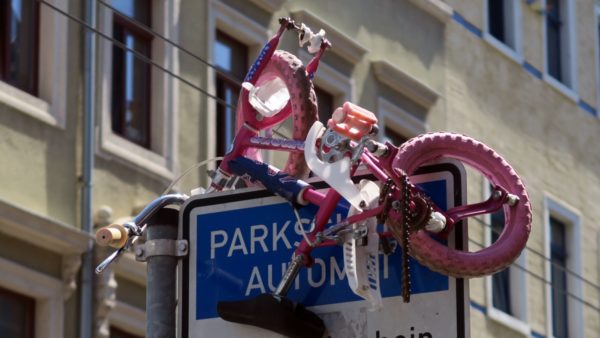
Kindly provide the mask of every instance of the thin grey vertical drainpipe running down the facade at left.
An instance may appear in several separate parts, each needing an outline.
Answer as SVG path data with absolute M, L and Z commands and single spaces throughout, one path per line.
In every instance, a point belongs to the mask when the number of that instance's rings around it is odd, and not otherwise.
M 86 0 L 84 3 L 85 22 L 91 28 L 96 28 L 96 0 Z M 96 107 L 96 34 L 85 30 L 84 42 L 84 116 L 83 116 L 83 182 L 81 198 L 81 224 L 82 230 L 92 233 L 92 181 L 94 170 L 94 122 Z M 79 337 L 92 338 L 93 320 L 93 289 L 94 289 L 94 247 L 90 240 L 88 250 L 83 255 L 81 264 L 81 322 Z

